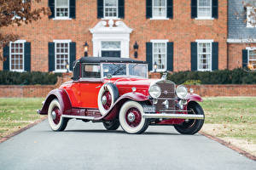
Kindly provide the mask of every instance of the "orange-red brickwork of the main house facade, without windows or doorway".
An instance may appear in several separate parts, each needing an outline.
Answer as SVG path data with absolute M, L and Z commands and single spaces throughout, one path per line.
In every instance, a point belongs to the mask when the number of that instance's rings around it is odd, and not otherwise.
M 84 55 L 83 44 L 89 42 L 92 55 L 90 28 L 100 20 L 96 19 L 96 0 L 77 0 L 75 20 L 42 20 L 27 26 L 9 26 L 2 33 L 15 33 L 20 39 L 32 42 L 32 71 L 48 71 L 48 42 L 54 39 L 71 39 L 77 42 L 77 59 Z M 213 39 L 219 43 L 219 69 L 227 66 L 227 0 L 218 1 L 218 20 L 192 20 L 190 0 L 173 1 L 172 20 L 147 20 L 145 0 L 125 0 L 125 24 L 133 29 L 130 42 L 130 57 L 133 58 L 133 44 L 139 45 L 138 59 L 146 59 L 146 42 L 151 39 L 168 39 L 174 42 L 174 71 L 190 70 L 190 42 L 196 39 Z M 42 0 L 38 6 L 48 6 Z M 3 69 L 2 62 L 0 70 Z

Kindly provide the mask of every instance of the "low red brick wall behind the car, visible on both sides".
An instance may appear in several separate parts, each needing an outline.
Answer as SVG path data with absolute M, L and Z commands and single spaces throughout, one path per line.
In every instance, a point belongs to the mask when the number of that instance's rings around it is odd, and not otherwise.
M 55 85 L 35 85 L 35 86 L 3 86 L 0 85 L 0 98 L 32 98 L 43 97 L 50 90 L 56 88 Z M 256 84 L 253 85 L 201 85 L 187 86 L 193 88 L 195 94 L 202 97 L 213 96 L 256 96 Z

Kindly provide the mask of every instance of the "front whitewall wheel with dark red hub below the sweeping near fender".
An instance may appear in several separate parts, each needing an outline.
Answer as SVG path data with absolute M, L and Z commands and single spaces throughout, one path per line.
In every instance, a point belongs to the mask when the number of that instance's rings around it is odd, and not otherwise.
M 140 134 L 148 128 L 148 120 L 143 118 L 143 106 L 136 101 L 125 102 L 119 111 L 119 122 L 126 133 Z

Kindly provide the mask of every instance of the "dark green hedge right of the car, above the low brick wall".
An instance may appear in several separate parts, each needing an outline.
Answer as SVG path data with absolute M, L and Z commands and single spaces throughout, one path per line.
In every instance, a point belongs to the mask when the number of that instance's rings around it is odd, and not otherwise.
M 179 71 L 168 74 L 167 79 L 177 84 L 201 82 L 201 84 L 255 84 L 256 71 L 235 69 L 232 71 Z

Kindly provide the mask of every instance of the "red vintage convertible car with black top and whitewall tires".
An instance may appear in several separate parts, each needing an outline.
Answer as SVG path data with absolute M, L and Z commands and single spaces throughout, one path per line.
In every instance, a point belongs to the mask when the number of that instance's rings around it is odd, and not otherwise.
M 183 85 L 148 79 L 148 65 L 134 59 L 82 57 L 73 64 L 73 80 L 49 92 L 38 110 L 49 126 L 63 131 L 70 119 L 120 125 L 126 133 L 143 133 L 149 125 L 173 125 L 183 134 L 204 123 L 199 95 Z

